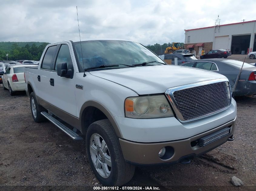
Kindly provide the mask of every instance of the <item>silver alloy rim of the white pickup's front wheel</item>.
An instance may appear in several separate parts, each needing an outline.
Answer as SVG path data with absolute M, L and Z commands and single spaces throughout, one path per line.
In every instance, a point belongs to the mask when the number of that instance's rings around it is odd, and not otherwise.
M 111 173 L 111 157 L 106 142 L 97 133 L 91 135 L 90 154 L 97 172 L 103 178 L 108 178 Z

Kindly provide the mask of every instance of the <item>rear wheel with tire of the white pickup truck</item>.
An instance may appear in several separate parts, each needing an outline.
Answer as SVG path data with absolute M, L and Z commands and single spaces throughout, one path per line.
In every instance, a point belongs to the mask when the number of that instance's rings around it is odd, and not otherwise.
M 45 117 L 41 115 L 41 112 L 47 110 L 37 103 L 34 92 L 30 94 L 30 109 L 36 123 L 45 121 Z

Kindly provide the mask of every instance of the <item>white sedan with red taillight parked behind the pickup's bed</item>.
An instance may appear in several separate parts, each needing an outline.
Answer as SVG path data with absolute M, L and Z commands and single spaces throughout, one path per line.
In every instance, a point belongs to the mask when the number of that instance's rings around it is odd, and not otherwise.
M 38 66 L 32 64 L 12 65 L 6 69 L 2 76 L 4 90 L 9 90 L 10 95 L 13 96 L 15 91 L 25 91 L 26 83 L 24 78 L 25 66 Z

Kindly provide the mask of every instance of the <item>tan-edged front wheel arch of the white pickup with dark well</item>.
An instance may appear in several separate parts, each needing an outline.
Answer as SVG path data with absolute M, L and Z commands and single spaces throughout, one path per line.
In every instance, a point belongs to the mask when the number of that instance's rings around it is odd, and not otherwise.
M 86 134 L 86 131 L 91 123 L 101 119 L 108 119 L 113 126 L 116 135 L 120 138 L 123 138 L 114 116 L 104 105 L 95 100 L 89 100 L 85 102 L 81 107 L 79 114 L 79 123 L 81 126 L 82 134 Z

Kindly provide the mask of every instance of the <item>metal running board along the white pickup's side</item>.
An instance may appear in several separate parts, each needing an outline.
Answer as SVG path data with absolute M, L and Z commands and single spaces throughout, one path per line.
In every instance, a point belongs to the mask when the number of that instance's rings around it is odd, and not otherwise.
M 57 126 L 59 129 L 61 129 L 63 132 L 65 132 L 70 138 L 72 138 L 74 141 L 82 142 L 84 139 L 79 136 L 77 133 L 60 123 L 57 119 L 50 116 L 46 111 L 41 112 L 42 116 L 44 116 L 46 119 L 48 119 L 50 122 L 52 122 L 55 126 Z

